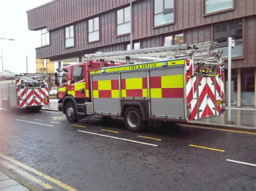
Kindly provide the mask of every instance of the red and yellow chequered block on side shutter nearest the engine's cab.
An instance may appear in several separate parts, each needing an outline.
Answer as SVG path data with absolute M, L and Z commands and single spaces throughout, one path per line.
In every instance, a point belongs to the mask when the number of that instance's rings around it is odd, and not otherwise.
M 118 80 L 99 80 L 92 82 L 93 98 L 119 98 Z

